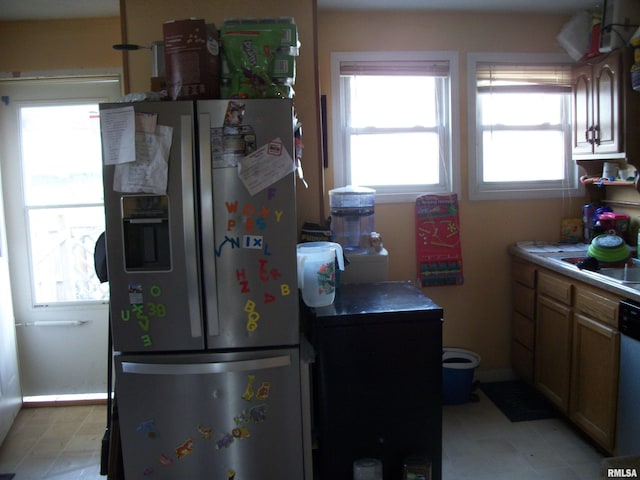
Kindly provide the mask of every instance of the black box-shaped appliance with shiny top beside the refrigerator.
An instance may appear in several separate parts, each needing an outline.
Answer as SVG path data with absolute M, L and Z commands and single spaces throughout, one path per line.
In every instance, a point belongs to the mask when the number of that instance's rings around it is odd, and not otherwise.
M 333 305 L 305 310 L 313 366 L 314 465 L 351 480 L 353 462 L 382 461 L 402 478 L 408 456 L 442 476 L 442 308 L 405 282 L 344 285 Z

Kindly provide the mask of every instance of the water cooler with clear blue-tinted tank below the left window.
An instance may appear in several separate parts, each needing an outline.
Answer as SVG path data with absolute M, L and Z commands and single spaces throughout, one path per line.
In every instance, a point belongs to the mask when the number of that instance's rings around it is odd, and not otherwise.
M 342 245 L 348 264 L 341 283 L 388 279 L 389 253 L 374 231 L 376 191 L 349 185 L 329 191 L 332 240 Z

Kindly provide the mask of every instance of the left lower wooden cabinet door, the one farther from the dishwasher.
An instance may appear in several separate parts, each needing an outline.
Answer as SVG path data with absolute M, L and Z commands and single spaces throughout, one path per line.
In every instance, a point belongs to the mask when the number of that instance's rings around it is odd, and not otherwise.
M 536 312 L 535 385 L 558 408 L 568 412 L 572 310 L 539 295 Z

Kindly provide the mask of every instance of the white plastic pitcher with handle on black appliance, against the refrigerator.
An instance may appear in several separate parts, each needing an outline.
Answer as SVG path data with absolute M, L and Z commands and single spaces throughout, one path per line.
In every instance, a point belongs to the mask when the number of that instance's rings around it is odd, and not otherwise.
M 297 246 L 298 288 L 308 307 L 331 305 L 336 296 L 336 271 L 344 270 L 342 246 L 334 242 L 306 242 Z

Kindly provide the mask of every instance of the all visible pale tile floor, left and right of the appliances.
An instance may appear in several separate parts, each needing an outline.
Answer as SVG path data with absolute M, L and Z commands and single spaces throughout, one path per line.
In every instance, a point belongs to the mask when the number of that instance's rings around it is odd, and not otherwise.
M 561 419 L 511 423 L 482 392 L 444 407 L 443 480 L 596 480 L 602 454 Z M 14 480 L 104 479 L 105 407 L 23 409 L 0 447 Z

